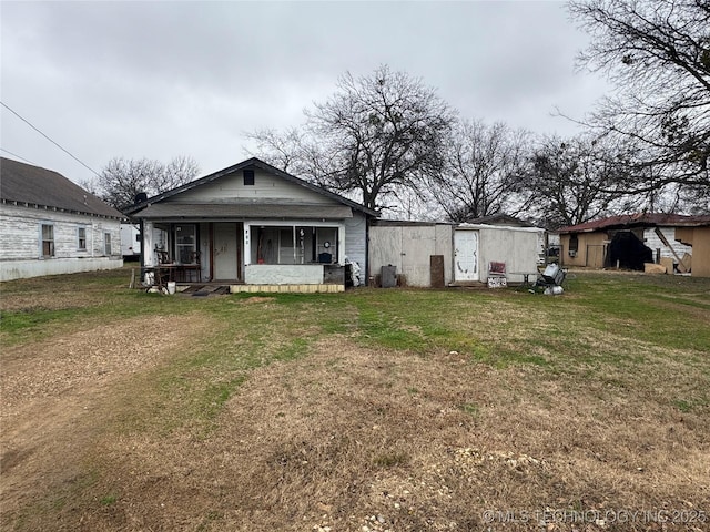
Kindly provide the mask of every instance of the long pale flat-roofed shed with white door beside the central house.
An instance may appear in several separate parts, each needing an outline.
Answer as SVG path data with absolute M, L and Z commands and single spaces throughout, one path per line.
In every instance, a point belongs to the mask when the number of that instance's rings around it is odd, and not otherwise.
M 439 222 L 375 221 L 369 228 L 369 272 L 394 267 L 400 284 L 443 287 L 487 283 L 505 267 L 506 282 L 537 276 L 538 227 Z M 532 277 L 532 280 L 535 277 Z M 376 283 L 375 278 L 373 282 Z

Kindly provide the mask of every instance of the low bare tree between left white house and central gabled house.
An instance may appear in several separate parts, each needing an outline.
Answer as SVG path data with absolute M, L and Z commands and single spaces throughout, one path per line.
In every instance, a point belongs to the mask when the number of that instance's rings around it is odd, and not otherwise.
M 132 205 L 139 193 L 161 194 L 191 182 L 200 171 L 191 157 L 179 156 L 163 164 L 149 158 L 115 157 L 97 181 L 99 195 L 116 208 Z

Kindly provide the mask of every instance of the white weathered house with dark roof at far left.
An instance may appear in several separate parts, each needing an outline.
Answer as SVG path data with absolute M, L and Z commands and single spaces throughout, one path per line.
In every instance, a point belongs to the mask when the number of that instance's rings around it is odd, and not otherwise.
M 0 280 L 118 268 L 122 214 L 51 170 L 0 158 Z

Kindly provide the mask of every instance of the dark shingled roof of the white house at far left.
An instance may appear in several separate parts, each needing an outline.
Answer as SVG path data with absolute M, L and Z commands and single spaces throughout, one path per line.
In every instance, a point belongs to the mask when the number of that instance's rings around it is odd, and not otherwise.
M 0 157 L 0 200 L 3 203 L 123 218 L 119 211 L 60 173 L 4 157 Z

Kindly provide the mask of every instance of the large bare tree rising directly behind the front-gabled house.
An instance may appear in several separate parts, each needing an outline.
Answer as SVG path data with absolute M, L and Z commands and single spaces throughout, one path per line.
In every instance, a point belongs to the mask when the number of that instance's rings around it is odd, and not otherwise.
M 386 65 L 358 79 L 346 73 L 336 93 L 305 115 L 301 132 L 251 134 L 260 155 L 331 190 L 356 191 L 373 209 L 442 171 L 455 121 L 433 89 Z

